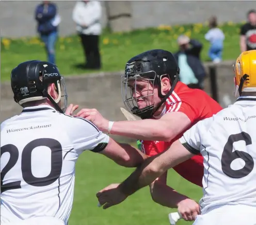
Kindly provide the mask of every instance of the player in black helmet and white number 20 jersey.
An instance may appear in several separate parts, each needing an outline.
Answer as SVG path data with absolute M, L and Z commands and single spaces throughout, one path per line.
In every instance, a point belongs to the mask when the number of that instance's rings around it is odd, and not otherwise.
M 142 162 L 140 151 L 70 116 L 76 106 L 66 110 L 66 86 L 56 65 L 20 63 L 11 72 L 11 88 L 23 111 L 1 124 L 1 224 L 67 225 L 75 163 L 85 150 L 125 167 Z

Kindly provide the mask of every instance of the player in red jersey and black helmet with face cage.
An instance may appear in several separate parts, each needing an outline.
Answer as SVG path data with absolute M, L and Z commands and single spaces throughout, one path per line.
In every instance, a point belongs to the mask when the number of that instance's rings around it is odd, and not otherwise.
M 141 53 L 126 63 L 122 93 L 126 108 L 142 120 L 111 122 L 95 109 L 83 109 L 77 116 L 91 120 L 103 132 L 142 140 L 142 152 L 149 156 L 161 153 L 199 120 L 222 109 L 205 92 L 189 89 L 180 82 L 179 71 L 169 51 L 155 49 Z M 202 155 L 175 166 L 174 170 L 202 186 Z M 199 205 L 167 186 L 166 178 L 167 173 L 151 184 L 152 199 L 167 207 L 177 207 L 185 220 L 194 220 L 200 214 Z M 110 203 L 100 198 L 101 193 L 117 186 L 109 185 L 97 194 L 100 204 L 106 203 L 103 209 Z

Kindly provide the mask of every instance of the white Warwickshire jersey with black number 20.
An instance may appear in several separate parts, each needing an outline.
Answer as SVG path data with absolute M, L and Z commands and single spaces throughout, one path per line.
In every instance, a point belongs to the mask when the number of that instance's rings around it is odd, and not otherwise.
M 1 124 L 1 222 L 39 216 L 68 224 L 75 163 L 102 151 L 109 137 L 88 120 L 50 106 L 25 108 Z

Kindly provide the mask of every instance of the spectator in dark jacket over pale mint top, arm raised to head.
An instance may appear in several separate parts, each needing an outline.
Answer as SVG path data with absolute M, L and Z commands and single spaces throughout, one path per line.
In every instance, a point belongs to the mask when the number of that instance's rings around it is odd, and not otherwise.
M 178 38 L 179 51 L 175 58 L 180 67 L 180 81 L 190 88 L 203 89 L 205 70 L 200 60 L 202 44 L 182 35 Z

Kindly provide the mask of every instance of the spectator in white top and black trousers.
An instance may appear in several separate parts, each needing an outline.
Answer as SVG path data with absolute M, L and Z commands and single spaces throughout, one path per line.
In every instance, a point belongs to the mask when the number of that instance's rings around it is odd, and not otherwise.
M 99 1 L 77 1 L 73 9 L 73 21 L 81 38 L 86 63 L 80 65 L 87 69 L 100 69 L 101 57 L 99 40 L 102 7 Z

